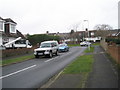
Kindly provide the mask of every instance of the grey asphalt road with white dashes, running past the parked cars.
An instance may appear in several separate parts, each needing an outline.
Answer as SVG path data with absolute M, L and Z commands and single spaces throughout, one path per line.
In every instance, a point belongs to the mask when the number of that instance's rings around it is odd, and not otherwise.
M 85 47 L 72 47 L 53 58 L 32 59 L 2 68 L 3 88 L 38 88 L 82 54 Z

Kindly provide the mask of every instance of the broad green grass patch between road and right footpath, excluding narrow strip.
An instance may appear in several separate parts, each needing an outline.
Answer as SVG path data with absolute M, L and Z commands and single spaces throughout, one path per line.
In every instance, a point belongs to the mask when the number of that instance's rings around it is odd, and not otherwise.
M 92 63 L 93 63 L 93 55 L 80 56 L 67 68 L 65 68 L 63 74 L 88 73 L 91 71 Z

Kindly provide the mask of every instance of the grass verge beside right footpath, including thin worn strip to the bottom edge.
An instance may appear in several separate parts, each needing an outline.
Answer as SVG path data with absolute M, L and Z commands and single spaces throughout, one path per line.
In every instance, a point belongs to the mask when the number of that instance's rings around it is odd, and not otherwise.
M 62 74 L 80 74 L 82 80 L 79 81 L 75 88 L 85 88 L 89 73 L 92 71 L 93 55 L 79 56 L 74 62 L 66 67 Z

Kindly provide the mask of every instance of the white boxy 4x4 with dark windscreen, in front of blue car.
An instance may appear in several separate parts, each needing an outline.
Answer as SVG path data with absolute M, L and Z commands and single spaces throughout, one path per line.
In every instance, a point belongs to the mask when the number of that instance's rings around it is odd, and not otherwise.
M 51 58 L 53 54 L 58 55 L 57 41 L 44 41 L 39 48 L 34 50 L 35 58 L 39 58 L 39 56 L 49 56 Z

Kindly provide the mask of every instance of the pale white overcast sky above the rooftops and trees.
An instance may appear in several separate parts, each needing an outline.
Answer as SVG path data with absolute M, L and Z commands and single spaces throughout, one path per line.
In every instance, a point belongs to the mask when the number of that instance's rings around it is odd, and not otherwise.
M 11 18 L 23 34 L 80 31 L 97 24 L 118 28 L 119 0 L 0 0 L 0 16 Z M 84 22 L 84 20 L 88 20 Z M 89 22 L 89 25 L 88 25 Z

